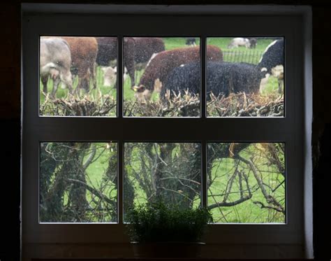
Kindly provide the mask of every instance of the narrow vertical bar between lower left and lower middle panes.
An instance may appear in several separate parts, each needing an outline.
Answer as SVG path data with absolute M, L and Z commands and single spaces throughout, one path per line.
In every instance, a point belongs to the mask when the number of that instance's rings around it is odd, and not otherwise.
M 117 223 L 123 224 L 124 220 L 124 141 L 117 143 Z

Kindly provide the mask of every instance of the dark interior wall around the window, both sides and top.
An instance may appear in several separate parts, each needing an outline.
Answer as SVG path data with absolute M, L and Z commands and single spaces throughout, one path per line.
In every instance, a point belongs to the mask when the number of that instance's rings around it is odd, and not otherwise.
M 87 3 L 89 1 L 80 2 Z M 163 1 L 163 3 L 183 4 L 199 4 L 201 2 Z M 145 3 L 153 2 L 145 1 Z M 207 2 L 204 1 L 203 3 Z M 229 4 L 233 1 L 208 1 L 208 3 Z M 235 3 L 300 4 L 299 1 L 235 1 Z M 331 45 L 331 9 L 316 3 L 316 1 L 314 3 L 313 1 L 304 1 L 304 4 L 311 4 L 313 8 L 314 253 L 318 260 L 330 260 L 330 218 L 328 215 L 330 209 L 330 195 L 328 193 L 330 184 L 330 133 L 324 132 L 323 136 L 323 131 L 326 128 L 330 132 L 331 86 L 329 86 L 330 67 L 328 64 L 330 63 Z M 20 1 L 1 3 L 0 24 L 2 29 L 0 41 L 2 133 L 0 149 L 0 260 L 5 261 L 19 260 L 20 258 Z M 329 238 L 329 241 L 325 238 Z

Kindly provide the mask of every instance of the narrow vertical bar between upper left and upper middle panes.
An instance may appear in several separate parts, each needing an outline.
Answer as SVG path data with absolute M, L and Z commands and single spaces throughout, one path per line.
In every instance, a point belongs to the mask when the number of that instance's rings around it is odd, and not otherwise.
M 123 36 L 117 36 L 117 118 L 123 118 Z

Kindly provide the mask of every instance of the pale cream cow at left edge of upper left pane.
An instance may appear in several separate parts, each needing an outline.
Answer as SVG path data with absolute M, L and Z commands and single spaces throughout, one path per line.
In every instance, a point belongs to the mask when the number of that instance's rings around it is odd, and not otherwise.
M 47 80 L 53 80 L 51 96 L 55 97 L 57 87 L 62 81 L 73 92 L 71 76 L 71 51 L 68 43 L 61 38 L 41 38 L 40 42 L 40 73 L 43 92 L 47 93 Z

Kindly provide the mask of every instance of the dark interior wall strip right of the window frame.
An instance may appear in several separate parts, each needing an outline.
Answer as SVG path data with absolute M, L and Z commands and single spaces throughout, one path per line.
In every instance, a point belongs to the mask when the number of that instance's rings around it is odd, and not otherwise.
M 329 83 L 331 9 L 313 6 L 313 206 L 314 254 L 318 260 L 331 258 L 330 206 L 330 117 L 331 86 Z M 329 42 L 329 43 L 328 43 Z

